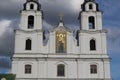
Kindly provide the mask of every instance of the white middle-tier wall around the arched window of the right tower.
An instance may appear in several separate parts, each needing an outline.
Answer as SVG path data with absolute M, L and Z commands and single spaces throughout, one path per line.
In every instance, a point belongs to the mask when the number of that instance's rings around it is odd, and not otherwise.
M 106 52 L 106 33 L 100 31 L 82 31 L 79 33 L 80 53 L 81 54 L 107 54 Z M 90 40 L 96 41 L 96 50 L 90 50 Z

